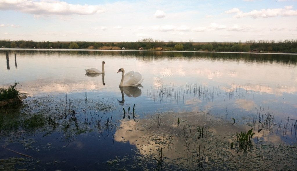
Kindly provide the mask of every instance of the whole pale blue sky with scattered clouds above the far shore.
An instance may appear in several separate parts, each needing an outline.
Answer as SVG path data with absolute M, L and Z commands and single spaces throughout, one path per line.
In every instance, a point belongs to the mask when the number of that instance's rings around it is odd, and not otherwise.
M 0 0 L 0 40 L 297 40 L 297 0 Z

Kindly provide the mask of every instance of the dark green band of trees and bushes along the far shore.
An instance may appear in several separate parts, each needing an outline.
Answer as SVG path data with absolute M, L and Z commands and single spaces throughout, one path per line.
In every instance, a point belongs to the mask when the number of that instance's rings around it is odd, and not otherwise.
M 278 52 L 297 53 L 297 40 L 249 40 L 242 42 L 164 42 L 153 38 L 144 38 L 137 42 L 37 42 L 33 40 L 0 40 L 2 48 L 55 48 L 55 49 L 105 49 L 105 50 L 168 50 L 168 51 L 216 51 L 216 52 Z

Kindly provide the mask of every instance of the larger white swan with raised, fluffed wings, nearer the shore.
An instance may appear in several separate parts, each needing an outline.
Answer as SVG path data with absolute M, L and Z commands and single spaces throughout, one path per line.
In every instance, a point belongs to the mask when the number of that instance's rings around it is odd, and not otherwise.
M 137 86 L 140 85 L 143 81 L 139 72 L 129 71 L 125 74 L 124 68 L 120 68 L 117 73 L 119 72 L 122 72 L 120 87 Z

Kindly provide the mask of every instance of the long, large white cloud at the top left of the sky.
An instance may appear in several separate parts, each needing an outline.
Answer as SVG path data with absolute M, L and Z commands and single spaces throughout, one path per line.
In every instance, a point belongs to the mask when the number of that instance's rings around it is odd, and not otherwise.
M 100 5 L 68 4 L 56 0 L 2 0 L 0 10 L 15 10 L 34 15 L 90 15 L 105 12 Z

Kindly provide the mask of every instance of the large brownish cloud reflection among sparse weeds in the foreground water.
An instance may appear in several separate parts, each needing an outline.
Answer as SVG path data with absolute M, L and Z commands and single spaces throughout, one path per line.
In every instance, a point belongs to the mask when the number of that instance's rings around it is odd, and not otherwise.
M 178 117 L 181 120 L 180 125 L 177 125 Z M 198 125 L 209 131 L 206 139 L 195 138 Z M 195 159 L 194 163 L 191 163 L 189 156 L 196 153 L 198 144 L 202 147 L 206 145 L 206 149 L 208 149 L 205 161 L 210 159 L 209 156 L 217 156 L 218 149 L 221 148 L 223 151 L 236 155 L 236 150 L 230 150 L 230 143 L 236 140 L 236 133 L 247 132 L 249 129 L 251 127 L 248 125 L 232 124 L 232 122 L 214 118 L 204 112 L 168 112 L 161 114 L 159 127 L 157 115 L 136 121 L 122 120 L 114 137 L 116 141 L 135 145 L 142 155 L 157 157 L 158 147 L 159 149 L 162 147 L 166 162 L 187 163 L 196 166 L 197 160 Z M 256 136 L 263 137 L 262 139 L 265 141 L 281 142 L 278 136 L 269 135 L 268 137 L 267 132 L 256 133 L 254 138 Z M 255 160 L 257 159 L 255 158 Z

